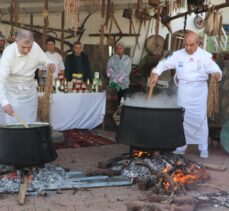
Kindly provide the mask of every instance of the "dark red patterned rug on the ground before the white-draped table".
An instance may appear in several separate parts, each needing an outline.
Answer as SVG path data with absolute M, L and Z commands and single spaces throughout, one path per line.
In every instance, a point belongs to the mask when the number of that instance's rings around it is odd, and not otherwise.
M 96 135 L 89 130 L 72 129 L 63 133 L 64 142 L 54 143 L 55 149 L 80 148 L 114 143 L 112 140 Z

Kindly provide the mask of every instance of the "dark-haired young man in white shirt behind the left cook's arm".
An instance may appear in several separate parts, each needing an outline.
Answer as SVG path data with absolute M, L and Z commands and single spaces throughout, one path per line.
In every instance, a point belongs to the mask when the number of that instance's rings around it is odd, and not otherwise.
M 45 54 L 48 56 L 48 58 L 55 64 L 56 69 L 53 73 L 53 79 L 56 79 L 58 77 L 58 74 L 64 75 L 64 62 L 62 56 L 56 52 L 55 50 L 55 40 L 53 38 L 48 38 L 46 40 L 46 46 L 47 51 Z M 38 71 L 38 78 L 46 78 L 46 66 L 39 67 Z

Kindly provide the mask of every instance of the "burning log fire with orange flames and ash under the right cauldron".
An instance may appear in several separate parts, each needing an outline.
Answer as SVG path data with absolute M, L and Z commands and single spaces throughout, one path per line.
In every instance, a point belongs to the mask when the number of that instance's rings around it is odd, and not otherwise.
M 155 193 L 178 193 L 209 178 L 201 164 L 180 155 L 136 150 L 132 155 L 112 163 L 110 169 L 120 170 L 139 182 L 142 189 L 151 187 Z

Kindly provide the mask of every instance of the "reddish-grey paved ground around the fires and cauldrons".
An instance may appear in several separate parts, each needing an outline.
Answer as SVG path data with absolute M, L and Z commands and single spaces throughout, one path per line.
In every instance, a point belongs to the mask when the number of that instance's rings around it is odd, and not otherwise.
M 103 133 L 103 135 L 114 138 L 114 133 Z M 105 161 L 128 151 L 128 146 L 118 144 L 61 149 L 57 151 L 58 159 L 54 163 L 87 173 L 95 169 L 99 161 Z M 210 180 L 198 185 L 197 189 L 188 191 L 188 195 L 219 190 L 229 191 L 229 155 L 216 143 L 210 147 L 209 152 L 209 158 L 201 160 L 197 147 L 193 146 L 188 148 L 186 157 L 205 163 L 223 165 L 227 167 L 227 170 L 224 172 L 208 170 Z M 48 192 L 46 197 L 27 196 L 23 206 L 17 204 L 16 194 L 4 194 L 0 196 L 0 211 L 125 211 L 126 203 L 144 199 L 146 193 L 147 191 L 138 190 L 137 185 L 79 189 L 76 192 L 70 190 L 62 191 L 61 194 Z M 209 207 L 198 210 L 225 211 L 227 208 Z

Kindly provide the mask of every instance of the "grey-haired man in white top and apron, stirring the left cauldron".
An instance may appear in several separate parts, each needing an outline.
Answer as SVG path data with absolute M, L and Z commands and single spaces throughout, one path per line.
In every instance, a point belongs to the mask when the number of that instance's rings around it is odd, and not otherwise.
M 55 70 L 52 63 L 28 30 L 19 31 L 16 41 L 5 48 L 0 59 L 0 103 L 6 123 L 17 122 L 14 113 L 28 123 L 36 121 L 38 97 L 34 73 L 40 64 Z

